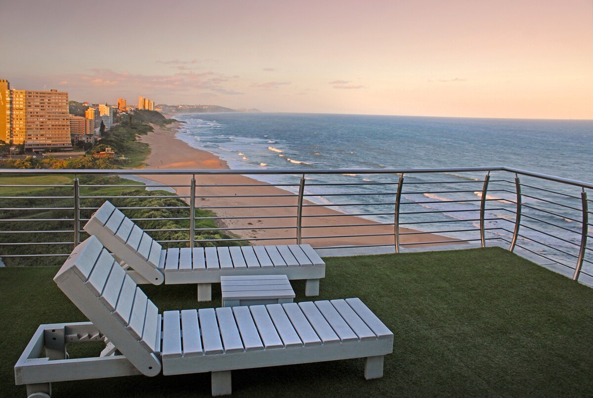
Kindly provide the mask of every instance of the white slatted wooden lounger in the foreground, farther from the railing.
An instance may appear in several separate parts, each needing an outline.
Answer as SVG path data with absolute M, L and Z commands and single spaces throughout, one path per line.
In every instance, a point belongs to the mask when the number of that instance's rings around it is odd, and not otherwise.
M 14 367 L 29 397 L 48 397 L 55 381 L 161 371 L 211 372 L 212 395 L 223 395 L 231 370 L 348 358 L 366 358 L 365 378 L 380 378 L 393 351 L 393 333 L 358 298 L 161 315 L 94 236 L 54 281 L 91 322 L 39 326 Z M 66 343 L 85 341 L 106 343 L 100 357 L 69 359 Z

